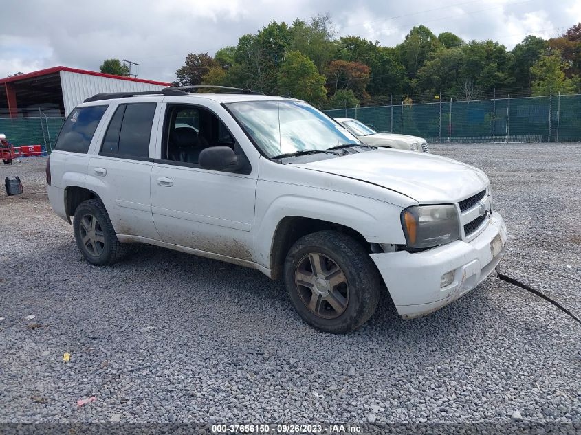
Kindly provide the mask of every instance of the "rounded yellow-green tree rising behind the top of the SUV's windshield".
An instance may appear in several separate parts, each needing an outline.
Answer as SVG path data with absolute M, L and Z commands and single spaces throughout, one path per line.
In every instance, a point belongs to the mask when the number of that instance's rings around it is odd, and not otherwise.
M 317 67 L 307 56 L 300 52 L 288 52 L 281 65 L 278 91 L 282 95 L 320 106 L 327 96 L 325 76 L 319 74 Z

